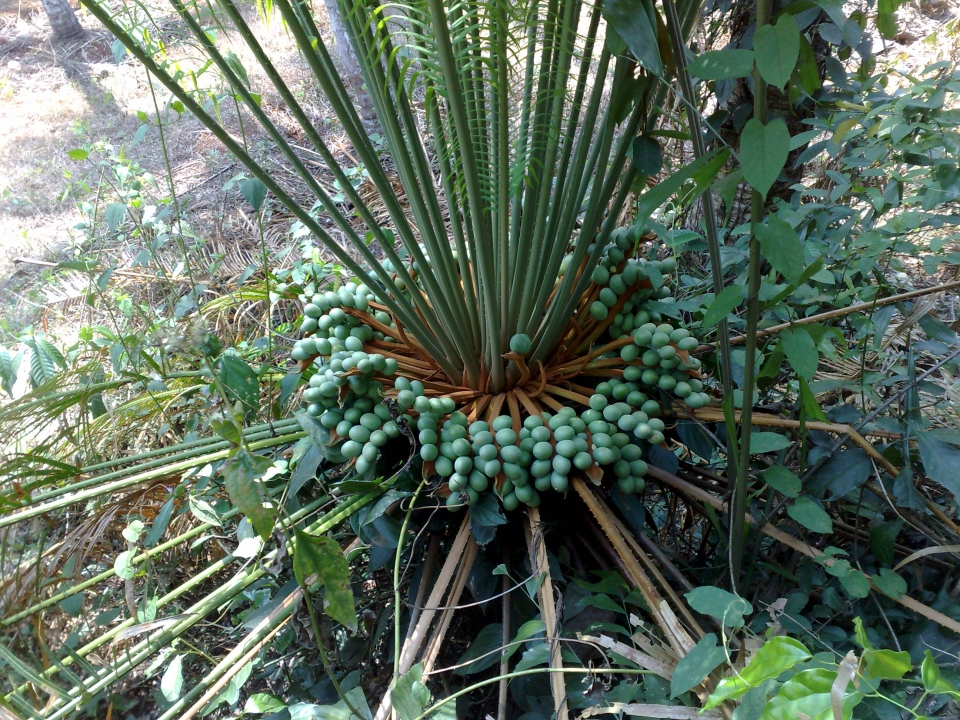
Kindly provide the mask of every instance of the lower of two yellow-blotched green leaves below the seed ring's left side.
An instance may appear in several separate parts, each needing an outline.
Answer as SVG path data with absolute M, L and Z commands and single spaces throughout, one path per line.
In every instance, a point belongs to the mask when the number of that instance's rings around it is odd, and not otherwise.
M 293 570 L 301 585 L 319 581 L 326 597 L 324 612 L 351 632 L 357 630 L 357 613 L 350 588 L 350 566 L 336 541 L 324 535 L 308 535 L 294 528 L 297 547 Z M 316 580 L 314 580 L 316 577 Z

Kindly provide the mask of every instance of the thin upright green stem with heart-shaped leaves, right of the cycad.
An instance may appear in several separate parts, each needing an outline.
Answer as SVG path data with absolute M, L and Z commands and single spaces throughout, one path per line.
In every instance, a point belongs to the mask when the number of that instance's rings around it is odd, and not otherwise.
M 757 0 L 759 30 L 770 22 L 770 0 Z M 767 123 L 767 83 L 758 67 L 753 71 L 753 116 Z M 746 530 L 747 497 L 750 492 L 750 430 L 753 419 L 753 388 L 756 382 L 755 356 L 757 352 L 757 324 L 760 319 L 760 241 L 757 226 L 763 218 L 764 196 L 753 190 L 750 203 L 750 260 L 747 271 L 747 326 L 744 336 L 743 403 L 740 412 L 740 457 L 737 481 L 733 488 L 733 508 L 730 514 L 730 585 L 740 589 L 743 564 L 744 531 Z

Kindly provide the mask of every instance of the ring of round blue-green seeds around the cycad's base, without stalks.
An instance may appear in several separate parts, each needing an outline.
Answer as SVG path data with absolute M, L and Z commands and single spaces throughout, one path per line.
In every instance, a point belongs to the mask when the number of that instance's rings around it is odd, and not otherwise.
M 658 398 L 665 393 L 697 408 L 709 397 L 697 377 L 700 362 L 689 355 L 697 339 L 685 328 L 663 322 L 651 304 L 670 299 L 670 274 L 676 262 L 672 258 L 624 262 L 634 245 L 632 229 L 614 231 L 592 274 L 600 291 L 590 313 L 601 321 L 612 320 L 609 338 L 601 342 L 627 337 L 632 342 L 602 356 L 623 362 L 622 378 L 599 382 L 588 407 L 579 413 L 563 407 L 526 417 L 519 425 L 507 415 L 489 424 L 470 422 L 451 398 L 428 395 L 419 380 L 396 375 L 396 360 L 364 350 L 373 340 L 395 341 L 375 331 L 364 314 L 383 326 L 396 326 L 389 314 L 371 306 L 370 289 L 352 282 L 327 292 L 308 286 L 301 295 L 304 337 L 295 344 L 292 357 L 301 362 L 314 359 L 314 374 L 304 391 L 307 413 L 331 431 L 331 444 L 360 475 L 375 467 L 391 438 L 402 432 L 415 434 L 427 469 L 447 484 L 447 505 L 453 510 L 473 505 L 491 491 L 506 510 L 521 504 L 536 507 L 542 493 L 565 493 L 576 471 L 609 470 L 621 492 L 642 492 L 647 464 L 641 442 L 664 442 Z M 564 258 L 561 274 L 569 269 L 570 260 Z M 396 273 L 389 262 L 384 268 L 394 273 L 395 292 L 408 295 L 410 274 Z M 416 263 L 411 270 L 416 282 Z M 642 283 L 645 278 L 650 283 Z M 609 318 L 611 308 L 618 305 L 616 316 Z M 510 350 L 526 355 L 531 345 L 527 335 L 515 335 Z M 384 383 L 391 382 L 396 409 L 383 402 Z

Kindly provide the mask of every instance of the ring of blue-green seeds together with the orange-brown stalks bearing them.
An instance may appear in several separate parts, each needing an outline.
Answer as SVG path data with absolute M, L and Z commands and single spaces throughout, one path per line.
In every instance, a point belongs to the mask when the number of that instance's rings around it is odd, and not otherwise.
M 452 510 L 490 492 L 508 511 L 536 507 L 543 493 L 566 492 L 573 473 L 643 492 L 644 447 L 664 442 L 662 409 L 710 398 L 689 355 L 697 338 L 660 312 L 672 301 L 676 262 L 627 257 L 635 246 L 633 230 L 620 228 L 596 267 L 577 270 L 590 283 L 545 362 L 528 365 L 528 335 L 509 339 L 510 382 L 496 394 L 447 377 L 368 287 L 306 287 L 303 338 L 291 355 L 309 377 L 306 412 L 330 431 L 332 456 L 372 475 L 381 448 L 404 432 Z M 411 275 L 415 268 L 406 280 L 394 273 L 390 292 L 408 292 Z

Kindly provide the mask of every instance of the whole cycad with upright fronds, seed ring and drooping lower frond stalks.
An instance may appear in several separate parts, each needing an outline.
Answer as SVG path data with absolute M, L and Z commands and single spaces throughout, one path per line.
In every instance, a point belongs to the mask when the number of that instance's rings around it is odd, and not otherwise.
M 697 340 L 685 328 L 664 322 L 660 312 L 659 303 L 670 299 L 675 265 L 669 259 L 638 257 L 638 246 L 655 208 L 676 194 L 689 200 L 702 193 L 725 161 L 723 153 L 701 153 L 647 189 L 652 183 L 646 181 L 662 165 L 652 133 L 667 92 L 664 76 L 674 65 L 670 33 L 652 3 L 428 0 L 381 6 L 343 0 L 341 10 L 384 138 L 381 150 L 361 123 L 310 8 L 275 0 L 284 27 L 376 189 L 387 221 L 378 220 L 383 217 L 379 207 L 355 189 L 232 0 L 202 7 L 171 0 L 201 52 L 196 66 L 168 57 L 150 8 L 95 0 L 84 4 L 166 87 L 177 108 L 199 118 L 247 167 L 251 177 L 241 189 L 254 209 L 259 212 L 267 194 L 272 195 L 348 269 L 352 281 L 325 293 L 313 288 L 302 297 L 302 337 L 292 354 L 309 385 L 306 415 L 299 423 L 304 432 L 291 424 L 242 430 L 243 412 L 238 411 L 236 432 L 229 423 L 218 430 L 228 439 L 223 447 L 217 440 L 174 448 L 162 460 L 135 458 L 162 468 L 153 471 L 133 462 L 113 470 L 109 483 L 102 475 L 91 475 L 83 487 L 70 485 L 34 498 L 0 521 L 0 527 L 229 458 L 220 472 L 236 506 L 231 512 L 239 510 L 256 534 L 267 538 L 275 523 L 281 531 L 290 528 L 329 498 L 279 520 L 271 498 L 285 490 L 264 478 L 269 463 L 257 451 L 292 444 L 306 434 L 328 460 L 374 479 L 396 470 L 398 463 L 383 457 L 380 448 L 403 434 L 418 441 L 424 481 L 443 481 L 430 491 L 445 497 L 453 509 L 482 503 L 489 517 L 491 504 L 498 514 L 497 502 L 508 511 L 522 503 L 536 521 L 539 493 L 565 493 L 572 485 L 603 530 L 616 538 L 618 549 L 632 552 L 626 531 L 582 480 L 599 483 L 606 474 L 622 493 L 642 491 L 644 444 L 664 440 L 661 410 L 672 402 L 695 409 L 709 401 L 700 362 L 690 354 Z M 669 10 L 674 43 L 682 47 L 681 36 L 693 26 L 698 8 L 684 2 Z M 311 173 L 303 150 L 261 106 L 247 70 L 227 48 L 234 41 L 246 45 L 245 53 L 258 65 L 257 76 L 271 83 L 312 146 L 310 152 L 323 160 L 336 194 Z M 226 93 L 199 89 L 202 73 L 212 66 L 225 81 Z M 237 109 L 239 133 L 221 123 L 230 104 Z M 285 186 L 255 159 L 247 146 L 251 118 L 273 141 L 298 186 Z M 309 189 L 306 203 L 303 186 Z M 334 527 L 385 489 L 342 503 L 315 522 L 311 532 Z M 223 517 L 210 520 L 207 529 Z M 546 573 L 546 556 L 534 530 L 532 564 Z M 129 556 L 106 575 L 132 576 L 160 548 L 187 542 L 197 532 L 191 529 L 157 545 L 161 530 L 150 549 L 138 554 L 142 529 L 134 527 L 124 535 Z M 471 546 L 463 531 L 461 535 L 448 560 L 448 583 L 461 557 L 458 572 L 469 571 Z M 288 544 L 309 544 L 308 537 L 297 532 Z M 400 555 L 398 549 L 397 575 Z M 217 560 L 160 602 L 176 600 L 235 560 L 233 555 Z M 628 565 L 670 644 L 684 654 L 693 646 L 690 636 L 644 580 L 644 571 L 635 561 Z M 126 649 L 108 669 L 91 667 L 84 658 L 122 628 L 71 651 L 63 667 L 43 676 L 20 661 L 16 671 L 50 695 L 51 717 L 64 717 L 262 574 L 262 566 L 246 566 L 186 613 L 145 627 L 142 632 L 152 635 Z M 90 586 L 75 586 L 4 622 L 17 622 Z M 462 582 L 458 587 L 462 590 Z M 548 610 L 553 599 L 549 583 L 544 587 L 544 621 L 553 637 L 556 617 L 550 622 Z M 439 592 L 442 599 L 444 589 Z M 399 589 L 397 593 L 399 607 Z M 459 591 L 453 593 L 447 602 L 456 605 Z M 428 606 L 437 604 L 427 601 Z M 223 689 L 221 679 L 234 677 L 231 662 L 261 647 L 291 611 L 284 605 L 257 625 L 163 717 L 188 707 L 199 710 L 214 699 L 208 694 Z M 347 615 L 337 619 L 355 623 Z M 420 623 L 429 628 L 430 619 L 424 618 Z M 399 615 L 396 626 L 399 633 Z M 411 669 L 418 647 L 404 648 L 400 657 L 399 635 L 395 644 L 399 675 Z M 559 664 L 558 650 L 551 664 Z M 87 679 L 68 665 L 82 668 Z M 69 677 L 74 688 L 50 679 L 58 674 Z M 554 689 L 562 698 L 562 682 Z M 20 710 L 31 704 L 21 693 L 9 698 Z M 559 708 L 562 700 L 558 703 Z

